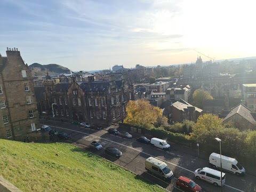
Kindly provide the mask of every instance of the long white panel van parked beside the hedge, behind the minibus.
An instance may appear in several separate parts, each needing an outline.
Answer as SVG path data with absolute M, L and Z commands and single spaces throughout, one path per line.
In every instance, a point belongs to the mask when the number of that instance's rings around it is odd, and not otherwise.
M 209 157 L 210 165 L 215 169 L 220 168 L 220 154 L 212 153 Z M 236 159 L 221 155 L 222 169 L 234 173 L 236 175 L 244 175 L 245 169 Z

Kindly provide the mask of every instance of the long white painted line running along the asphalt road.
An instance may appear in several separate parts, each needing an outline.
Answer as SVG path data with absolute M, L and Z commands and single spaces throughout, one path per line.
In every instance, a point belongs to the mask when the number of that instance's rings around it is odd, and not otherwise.
M 56 127 L 58 127 L 58 126 L 56 126 Z M 75 130 L 70 130 L 70 129 L 63 128 L 63 127 L 58 127 L 58 128 L 60 128 L 60 129 L 65 129 L 65 130 L 69 130 L 69 131 L 75 131 Z M 86 134 L 86 135 L 92 135 L 92 134 L 84 133 L 84 132 L 81 132 L 81 131 L 75 131 L 75 132 L 83 133 L 83 134 Z M 92 136 L 94 136 L 94 137 L 96 137 L 96 138 L 104 139 L 104 138 L 98 137 L 98 136 L 96 136 L 96 135 L 92 135 Z M 89 136 L 87 136 L 87 137 L 89 137 Z M 85 138 L 86 138 L 86 137 L 85 137 Z M 105 139 L 105 140 L 108 140 L 108 141 L 110 141 L 110 142 L 114 142 L 114 143 L 116 143 L 116 144 L 118 144 L 118 145 L 122 145 L 122 146 L 124 146 L 124 147 L 128 147 L 128 148 L 133 149 L 133 150 L 137 150 L 137 151 L 139 151 L 140 153 L 143 153 L 143 154 L 146 154 L 146 155 L 149 155 L 149 156 L 153 156 L 153 155 L 150 155 L 150 154 L 148 154 L 148 153 L 145 153 L 145 152 L 143 152 L 143 151 L 141 151 L 141 150 L 134 149 L 133 147 L 129 147 L 129 146 L 123 145 L 123 144 L 121 144 L 121 143 L 118 143 L 118 142 L 115 142 L 115 141 L 111 141 L 111 140 L 109 140 L 109 139 Z M 155 156 L 153 156 L 153 157 L 155 157 Z M 158 157 L 155 157 L 155 158 L 158 158 Z M 158 158 L 158 159 L 160 159 L 161 161 L 167 162 L 167 161 L 165 161 L 164 159 L 161 159 L 161 158 Z M 194 171 L 190 171 L 190 170 L 186 169 L 185 167 L 176 165 L 176 164 L 171 163 L 171 162 L 167 162 L 167 163 L 170 163 L 170 164 L 172 164 L 172 165 L 174 165 L 174 166 L 177 166 L 177 167 L 179 167 L 180 169 L 186 170 L 186 171 L 188 171 L 188 172 L 190 172 L 190 173 L 194 173 Z M 225 184 L 225 186 L 230 187 L 231 189 L 235 189 L 235 190 L 237 190 L 237 191 L 245 192 L 245 191 L 243 191 L 243 190 L 237 189 L 237 188 L 235 188 L 235 187 L 231 187 L 231 186 L 226 185 L 226 184 Z

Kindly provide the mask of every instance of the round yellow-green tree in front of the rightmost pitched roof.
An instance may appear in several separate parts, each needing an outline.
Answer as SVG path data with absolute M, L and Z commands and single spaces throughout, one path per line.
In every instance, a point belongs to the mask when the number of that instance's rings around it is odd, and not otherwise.
M 195 126 L 192 127 L 193 132 L 190 135 L 201 143 L 213 142 L 222 129 L 221 118 L 212 114 L 204 114 L 198 117 Z

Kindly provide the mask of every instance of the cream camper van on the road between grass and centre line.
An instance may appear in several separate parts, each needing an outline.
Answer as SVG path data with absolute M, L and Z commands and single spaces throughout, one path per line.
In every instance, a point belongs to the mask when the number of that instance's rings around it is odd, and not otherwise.
M 169 168 L 169 166 L 154 157 L 148 157 L 145 161 L 145 169 L 149 173 L 153 173 L 158 175 L 164 180 L 171 180 L 173 178 L 173 172 Z

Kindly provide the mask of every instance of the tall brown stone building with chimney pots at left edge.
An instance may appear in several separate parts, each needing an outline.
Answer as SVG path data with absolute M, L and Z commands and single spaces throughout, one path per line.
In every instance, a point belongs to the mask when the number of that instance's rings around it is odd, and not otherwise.
M 18 49 L 0 54 L 0 137 L 40 140 L 41 134 L 31 71 Z

